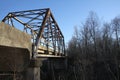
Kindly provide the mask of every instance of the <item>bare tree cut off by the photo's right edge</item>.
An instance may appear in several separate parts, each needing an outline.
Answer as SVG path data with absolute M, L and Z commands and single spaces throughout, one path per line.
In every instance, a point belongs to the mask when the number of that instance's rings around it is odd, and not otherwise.
M 116 17 L 113 19 L 112 21 L 112 27 L 113 27 L 113 33 L 115 36 L 115 43 L 114 43 L 114 60 L 115 60 L 115 63 L 116 63 L 116 69 L 117 69 L 117 80 L 119 80 L 119 52 L 120 52 L 120 47 L 119 47 L 119 44 L 120 44 L 120 18 L 119 17 Z

